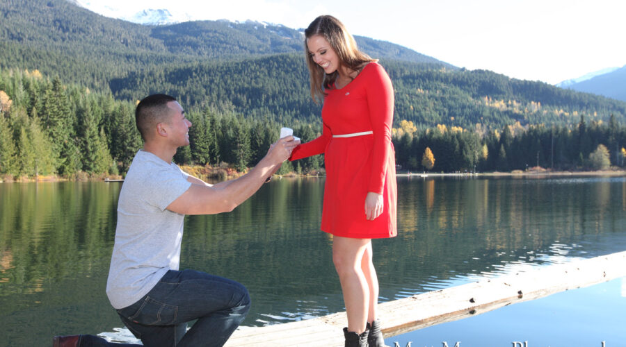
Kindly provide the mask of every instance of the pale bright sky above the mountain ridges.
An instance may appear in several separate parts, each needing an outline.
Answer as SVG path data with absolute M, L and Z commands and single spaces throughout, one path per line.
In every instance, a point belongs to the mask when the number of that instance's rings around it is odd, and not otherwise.
M 304 28 L 334 15 L 353 35 L 401 44 L 467 69 L 559 83 L 626 65 L 623 0 L 79 0 L 109 17 L 164 8 L 188 19 Z

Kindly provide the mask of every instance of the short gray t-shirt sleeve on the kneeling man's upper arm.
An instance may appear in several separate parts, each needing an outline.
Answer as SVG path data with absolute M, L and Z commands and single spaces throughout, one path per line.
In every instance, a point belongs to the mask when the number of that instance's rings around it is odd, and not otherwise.
M 159 170 L 152 175 L 152 182 L 146 185 L 146 201 L 157 206 L 161 211 L 175 201 L 191 187 L 185 174 L 179 167 L 172 164 L 168 169 Z

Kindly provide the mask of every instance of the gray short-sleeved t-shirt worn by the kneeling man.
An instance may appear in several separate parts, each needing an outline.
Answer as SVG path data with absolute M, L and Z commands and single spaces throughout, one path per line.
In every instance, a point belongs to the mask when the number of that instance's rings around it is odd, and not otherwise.
M 138 151 L 122 184 L 106 295 L 115 309 L 136 303 L 178 270 L 184 214 L 166 210 L 191 186 L 174 163 Z

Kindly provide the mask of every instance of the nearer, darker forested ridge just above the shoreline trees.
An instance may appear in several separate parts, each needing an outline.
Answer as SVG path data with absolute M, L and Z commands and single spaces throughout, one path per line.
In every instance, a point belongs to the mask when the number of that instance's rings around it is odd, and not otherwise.
M 396 121 L 419 127 L 437 124 L 473 129 L 520 124 L 577 124 L 624 121 L 626 103 L 603 96 L 563 90 L 546 83 L 520 81 L 491 71 L 444 69 L 427 64 L 381 60 L 396 91 Z M 246 60 L 198 62 L 155 67 L 111 81 L 119 99 L 165 92 L 189 106 L 217 105 L 248 117 L 275 116 L 316 121 L 302 54 Z

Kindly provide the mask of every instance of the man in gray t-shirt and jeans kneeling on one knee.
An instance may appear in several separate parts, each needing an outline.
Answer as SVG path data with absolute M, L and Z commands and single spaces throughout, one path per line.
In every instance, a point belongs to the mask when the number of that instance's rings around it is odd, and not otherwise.
M 243 285 L 208 273 L 179 271 L 186 214 L 230 212 L 271 177 L 294 137 L 279 139 L 248 174 L 209 185 L 172 162 L 188 146 L 191 122 L 172 96 L 155 94 L 138 103 L 143 139 L 122 185 L 106 294 L 122 322 L 144 346 L 223 346 L 250 310 Z M 186 323 L 196 320 L 191 329 Z M 54 346 L 112 344 L 93 335 L 54 337 Z

